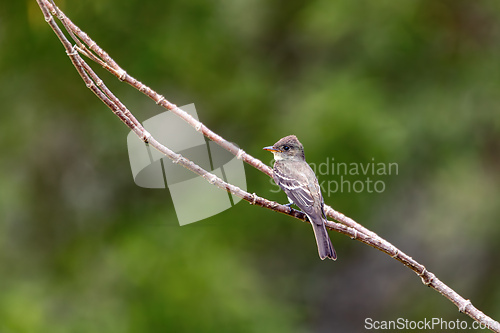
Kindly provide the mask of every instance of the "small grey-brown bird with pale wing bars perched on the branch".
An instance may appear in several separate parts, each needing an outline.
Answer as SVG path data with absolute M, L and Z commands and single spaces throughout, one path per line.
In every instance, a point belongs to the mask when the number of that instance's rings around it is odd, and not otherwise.
M 303 211 L 311 223 L 321 260 L 337 259 L 326 230 L 324 200 L 318 179 L 306 162 L 304 146 L 295 135 L 289 135 L 274 145 L 264 147 L 274 155 L 273 179 L 288 197 L 288 207 L 293 203 Z

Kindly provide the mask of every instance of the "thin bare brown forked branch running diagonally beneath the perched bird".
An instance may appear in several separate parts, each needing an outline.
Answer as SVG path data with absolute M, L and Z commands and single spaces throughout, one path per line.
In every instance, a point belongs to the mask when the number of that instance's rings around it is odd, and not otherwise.
M 203 169 L 199 165 L 193 163 L 189 159 L 183 157 L 180 154 L 175 153 L 169 148 L 165 147 L 158 141 L 156 141 L 153 136 L 146 131 L 142 124 L 137 121 L 133 114 L 126 108 L 126 106 L 116 98 L 113 93 L 106 87 L 104 82 L 95 74 L 92 68 L 82 59 L 80 54 L 88 57 L 92 61 L 98 63 L 110 73 L 115 75 L 120 81 L 127 82 L 132 87 L 138 89 L 146 96 L 151 98 L 156 104 L 163 106 L 165 109 L 172 111 L 174 114 L 182 118 L 188 124 L 190 124 L 196 131 L 202 133 L 204 136 L 210 140 L 219 144 L 222 148 L 226 149 L 238 159 L 243 160 L 254 168 L 260 170 L 261 172 L 272 176 L 272 170 L 267 165 L 262 163 L 257 158 L 247 154 L 242 149 L 236 147 L 234 144 L 222 138 L 220 135 L 211 131 L 203 123 L 193 118 L 187 112 L 178 108 L 175 104 L 170 103 L 165 99 L 164 96 L 158 94 L 153 89 L 144 85 L 140 81 L 136 80 L 125 70 L 123 70 L 118 64 L 106 53 L 104 52 L 85 32 L 78 28 L 71 20 L 53 3 L 52 0 L 37 0 L 45 20 L 54 30 L 64 48 L 66 49 L 67 55 L 70 57 L 71 62 L 75 66 L 76 70 L 82 77 L 85 85 L 92 90 L 92 92 L 104 103 L 106 104 L 115 115 L 117 115 L 120 120 L 125 123 L 137 136 L 145 143 L 151 145 L 159 152 L 167 156 L 172 160 L 173 163 L 177 163 L 185 167 L 186 169 L 196 173 L 197 175 L 206 179 L 210 184 L 213 184 L 225 191 L 228 191 L 243 200 L 248 201 L 250 204 L 264 207 L 267 209 L 274 210 L 296 219 L 302 221 L 308 221 L 307 216 L 297 210 L 290 209 L 287 206 L 281 205 L 277 202 L 267 200 L 265 198 L 257 196 L 255 193 L 248 193 L 243 191 L 237 186 L 229 184 L 214 174 Z M 64 33 L 61 31 L 56 21 L 54 20 L 54 15 L 62 22 L 65 29 L 68 31 L 71 38 L 75 41 L 76 45 L 72 45 L 70 41 L 66 38 Z M 493 320 L 492 318 L 485 315 L 483 312 L 474 307 L 470 300 L 463 298 L 453 289 L 444 284 L 439 280 L 433 273 L 429 272 L 424 265 L 418 263 L 412 257 L 408 256 L 406 253 L 399 250 L 397 247 L 392 245 L 390 242 L 379 237 L 373 231 L 370 231 L 358 224 L 353 219 L 343 215 L 340 212 L 335 211 L 330 206 L 325 205 L 325 212 L 327 216 L 331 217 L 335 221 L 340 223 L 327 221 L 326 226 L 335 230 L 339 233 L 347 235 L 352 239 L 356 239 L 363 242 L 379 251 L 382 251 L 389 255 L 390 257 L 398 260 L 406 267 L 415 272 L 421 279 L 422 283 L 433 288 L 444 297 L 449 299 L 453 304 L 455 304 L 459 311 L 467 314 L 469 317 L 484 325 L 486 328 L 500 333 L 500 323 Z

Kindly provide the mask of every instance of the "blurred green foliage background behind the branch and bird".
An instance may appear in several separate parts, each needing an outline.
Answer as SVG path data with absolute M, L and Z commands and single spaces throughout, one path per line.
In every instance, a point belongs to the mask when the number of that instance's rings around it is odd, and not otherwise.
M 500 2 L 56 1 L 132 76 L 271 163 L 397 163 L 325 201 L 500 319 Z M 104 70 L 140 121 L 154 102 Z M 180 227 L 35 0 L 0 10 L 0 332 L 361 332 L 471 320 L 390 257 L 240 202 Z M 248 190 L 279 202 L 245 166 Z M 337 175 L 320 176 L 333 181 Z M 346 175 L 363 180 L 365 176 Z M 194 209 L 196 209 L 194 207 Z

